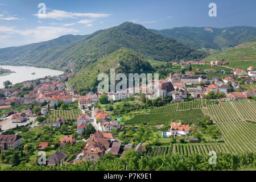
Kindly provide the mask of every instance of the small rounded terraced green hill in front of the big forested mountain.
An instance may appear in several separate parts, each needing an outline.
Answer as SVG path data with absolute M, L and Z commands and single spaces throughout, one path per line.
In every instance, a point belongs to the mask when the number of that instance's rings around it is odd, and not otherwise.
M 99 73 L 109 73 L 114 68 L 117 73 L 141 73 L 152 71 L 150 63 L 134 51 L 119 49 L 108 56 L 102 57 L 96 63 L 81 69 L 68 80 L 68 86 L 76 90 L 96 90 Z

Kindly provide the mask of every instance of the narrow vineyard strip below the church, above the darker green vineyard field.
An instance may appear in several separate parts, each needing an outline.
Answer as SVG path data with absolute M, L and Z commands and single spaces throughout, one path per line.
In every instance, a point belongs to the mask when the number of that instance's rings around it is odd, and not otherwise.
M 203 100 L 193 100 L 187 102 L 178 102 L 174 104 L 168 104 L 162 107 L 155 107 L 150 110 L 151 114 L 157 113 L 170 113 L 173 111 L 200 109 L 203 107 Z

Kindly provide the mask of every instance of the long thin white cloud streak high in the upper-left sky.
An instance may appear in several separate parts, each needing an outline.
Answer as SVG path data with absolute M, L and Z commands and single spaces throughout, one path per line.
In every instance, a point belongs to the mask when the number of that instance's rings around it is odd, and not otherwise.
M 77 18 L 77 17 L 89 17 L 89 18 L 105 18 L 110 16 L 110 14 L 102 14 L 102 13 L 71 13 L 62 10 L 52 10 L 46 14 L 33 14 L 38 18 L 52 18 L 52 19 L 67 19 L 67 18 Z

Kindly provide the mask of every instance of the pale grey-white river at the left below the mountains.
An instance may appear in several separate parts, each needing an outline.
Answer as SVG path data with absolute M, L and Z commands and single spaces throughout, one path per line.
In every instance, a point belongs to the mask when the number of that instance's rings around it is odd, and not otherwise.
M 10 69 L 15 73 L 10 73 L 9 75 L 0 76 L 0 88 L 4 88 L 3 82 L 9 80 L 14 84 L 20 83 L 27 80 L 35 80 L 38 78 L 43 78 L 46 76 L 57 76 L 62 75 L 63 71 L 58 71 L 55 69 L 48 69 L 48 68 L 35 68 L 35 67 L 16 67 L 16 66 L 6 66 L 0 65 L 3 69 Z M 31 73 L 35 72 L 35 75 L 31 75 Z

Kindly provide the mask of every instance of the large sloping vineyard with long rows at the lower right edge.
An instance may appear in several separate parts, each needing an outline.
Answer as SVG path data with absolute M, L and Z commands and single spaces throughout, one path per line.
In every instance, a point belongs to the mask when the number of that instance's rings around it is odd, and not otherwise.
M 208 105 L 209 114 L 233 154 L 256 150 L 256 104 L 244 101 Z

